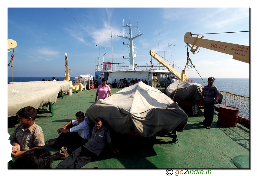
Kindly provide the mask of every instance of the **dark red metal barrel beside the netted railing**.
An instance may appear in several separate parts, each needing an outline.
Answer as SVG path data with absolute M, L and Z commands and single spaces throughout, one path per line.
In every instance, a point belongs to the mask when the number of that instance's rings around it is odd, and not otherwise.
M 239 109 L 236 107 L 220 106 L 217 123 L 229 127 L 236 127 L 238 114 Z

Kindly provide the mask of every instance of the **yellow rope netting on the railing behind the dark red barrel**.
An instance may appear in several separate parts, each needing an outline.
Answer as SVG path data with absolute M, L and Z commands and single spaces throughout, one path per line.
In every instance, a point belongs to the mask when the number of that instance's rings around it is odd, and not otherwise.
M 250 97 L 232 94 L 227 91 L 220 91 L 223 94 L 223 100 L 220 106 L 231 106 L 239 109 L 239 121 L 250 121 Z M 219 107 L 219 104 L 216 104 Z

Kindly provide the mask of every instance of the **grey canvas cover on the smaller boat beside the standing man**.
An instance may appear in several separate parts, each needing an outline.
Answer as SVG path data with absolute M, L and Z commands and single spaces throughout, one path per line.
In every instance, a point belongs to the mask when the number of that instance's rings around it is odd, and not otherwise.
M 176 81 L 168 86 L 166 89 L 166 94 L 168 97 L 173 99 L 176 92 L 174 97 L 175 101 L 198 101 L 201 99 L 202 90 L 203 87 L 200 84 L 191 84 L 186 81 Z

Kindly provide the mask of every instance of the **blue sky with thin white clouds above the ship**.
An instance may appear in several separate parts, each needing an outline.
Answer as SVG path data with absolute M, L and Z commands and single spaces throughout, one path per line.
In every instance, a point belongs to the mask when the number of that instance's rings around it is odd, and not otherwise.
M 181 72 L 187 61 L 186 32 L 248 31 L 249 18 L 249 8 L 8 8 L 8 39 L 18 43 L 13 76 L 64 77 L 65 53 L 74 73 L 70 72 L 71 78 L 94 76 L 98 56 L 102 62 L 106 53 L 104 61 L 112 62 L 111 27 L 113 62 L 127 62 L 122 59 L 122 56 L 129 57 L 122 42 L 128 40 L 116 36 L 122 35 L 123 19 L 124 24 L 130 21 L 132 26 L 138 22 L 140 33 L 143 33 L 134 40 L 138 48 L 135 62 L 149 62 L 151 49 L 162 57 L 165 51 L 165 59 L 174 61 L 174 68 Z M 135 29 L 132 29 L 133 35 Z M 249 32 L 208 34 L 204 38 L 249 46 L 249 35 Z M 197 54 L 190 53 L 202 77 L 249 78 L 249 64 L 232 57 L 204 48 Z M 10 59 L 11 53 L 8 53 L 8 63 Z M 11 67 L 7 71 L 11 76 Z M 194 69 L 189 70 L 188 75 L 200 77 Z

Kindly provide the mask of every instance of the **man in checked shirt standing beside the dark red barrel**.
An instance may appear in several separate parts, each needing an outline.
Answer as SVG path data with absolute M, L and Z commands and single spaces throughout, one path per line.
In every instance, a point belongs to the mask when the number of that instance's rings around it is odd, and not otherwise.
M 213 85 L 215 78 L 208 78 L 208 85 L 203 87 L 200 104 L 204 103 L 204 120 L 200 121 L 207 129 L 211 128 L 215 110 L 215 102 L 219 96 L 218 88 Z M 204 97 L 204 100 L 203 100 Z

